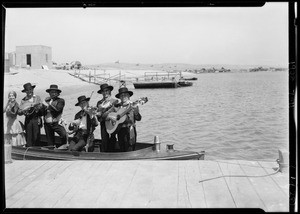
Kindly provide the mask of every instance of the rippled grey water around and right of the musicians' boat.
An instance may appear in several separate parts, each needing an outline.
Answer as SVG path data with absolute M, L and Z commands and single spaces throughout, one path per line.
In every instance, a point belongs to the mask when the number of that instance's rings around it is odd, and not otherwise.
M 194 85 L 185 88 L 134 89 L 127 85 L 134 92 L 132 100 L 149 99 L 140 106 L 138 141 L 153 142 L 157 135 L 162 144 L 174 144 L 175 149 L 205 150 L 208 160 L 275 160 L 278 149 L 288 150 L 287 72 L 195 76 Z M 76 91 L 62 90 L 67 121 L 80 110 L 74 106 L 78 96 L 90 96 L 94 90 L 91 105 L 101 99 L 99 86 L 93 84 Z M 116 93 L 117 86 L 113 96 Z M 100 137 L 99 127 L 95 133 Z

